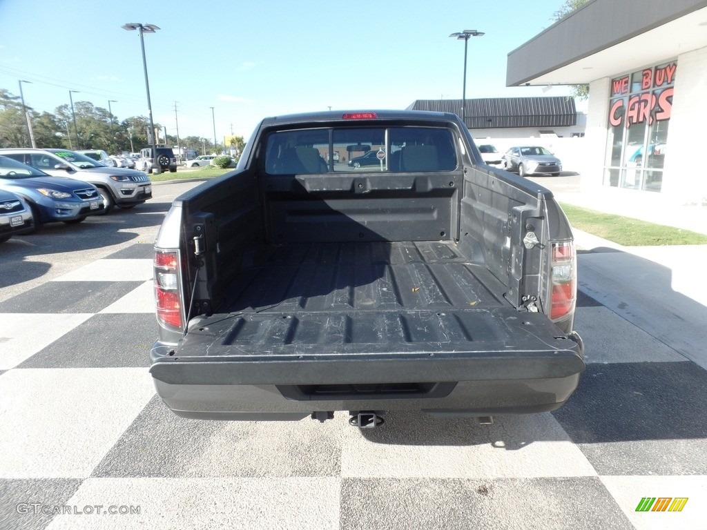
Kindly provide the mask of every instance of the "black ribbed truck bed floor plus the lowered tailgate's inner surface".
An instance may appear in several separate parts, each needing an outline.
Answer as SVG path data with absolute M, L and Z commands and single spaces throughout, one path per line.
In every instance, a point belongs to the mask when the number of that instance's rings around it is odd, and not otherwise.
M 177 355 L 513 356 L 564 346 L 539 338 L 564 338 L 544 315 L 494 296 L 498 280 L 453 242 L 272 245 L 258 254 L 231 285 L 230 304 L 192 321 Z

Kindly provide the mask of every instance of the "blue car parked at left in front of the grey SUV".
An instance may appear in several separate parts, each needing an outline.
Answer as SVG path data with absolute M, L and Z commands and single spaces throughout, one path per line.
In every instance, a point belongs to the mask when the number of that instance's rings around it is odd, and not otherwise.
M 0 156 L 0 189 L 27 201 L 35 229 L 42 223 L 81 223 L 103 211 L 103 199 L 93 184 L 45 172 L 12 158 Z

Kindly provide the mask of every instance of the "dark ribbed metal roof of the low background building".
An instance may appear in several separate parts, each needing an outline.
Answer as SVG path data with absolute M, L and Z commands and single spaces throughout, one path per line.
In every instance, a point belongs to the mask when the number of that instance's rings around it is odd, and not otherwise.
M 407 110 L 432 110 L 462 115 L 462 100 L 416 100 Z M 563 127 L 577 124 L 573 98 L 483 98 L 466 100 L 469 129 Z

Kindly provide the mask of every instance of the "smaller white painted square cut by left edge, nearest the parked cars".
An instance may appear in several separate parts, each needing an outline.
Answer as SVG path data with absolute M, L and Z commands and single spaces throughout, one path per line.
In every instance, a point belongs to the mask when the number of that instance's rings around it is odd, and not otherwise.
M 93 313 L 0 313 L 0 370 L 16 367 Z

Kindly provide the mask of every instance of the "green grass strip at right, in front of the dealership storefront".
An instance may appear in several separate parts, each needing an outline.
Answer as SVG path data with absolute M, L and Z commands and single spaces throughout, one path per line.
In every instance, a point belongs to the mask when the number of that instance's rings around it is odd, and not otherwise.
M 648 223 L 613 213 L 602 213 L 573 204 L 561 204 L 561 206 L 573 228 L 625 247 L 707 245 L 707 235 L 691 230 Z

